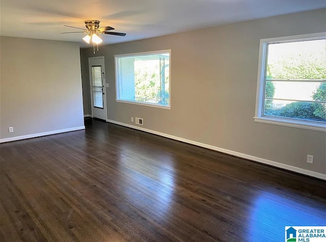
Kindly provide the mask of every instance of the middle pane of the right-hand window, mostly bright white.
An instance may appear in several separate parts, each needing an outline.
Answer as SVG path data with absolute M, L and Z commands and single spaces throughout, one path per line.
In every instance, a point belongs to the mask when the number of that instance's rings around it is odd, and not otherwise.
M 321 95 L 322 90 L 324 95 Z M 326 101 L 326 84 L 317 82 L 266 81 L 265 97 L 303 101 Z

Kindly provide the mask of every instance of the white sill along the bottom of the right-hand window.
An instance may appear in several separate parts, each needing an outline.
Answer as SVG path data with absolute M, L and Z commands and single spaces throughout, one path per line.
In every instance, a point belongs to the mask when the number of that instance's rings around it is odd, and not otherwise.
M 296 121 L 296 120 L 282 120 L 278 118 L 269 118 L 269 117 L 254 117 L 255 122 L 257 123 L 267 123 L 274 124 L 292 128 L 303 128 L 314 131 L 326 132 L 326 124 L 318 124 L 318 123 L 309 123 L 304 121 Z

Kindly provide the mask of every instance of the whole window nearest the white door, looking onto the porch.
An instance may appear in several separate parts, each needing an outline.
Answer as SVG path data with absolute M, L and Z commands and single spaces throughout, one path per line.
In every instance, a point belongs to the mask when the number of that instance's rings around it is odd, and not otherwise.
M 117 101 L 170 107 L 170 50 L 115 56 Z

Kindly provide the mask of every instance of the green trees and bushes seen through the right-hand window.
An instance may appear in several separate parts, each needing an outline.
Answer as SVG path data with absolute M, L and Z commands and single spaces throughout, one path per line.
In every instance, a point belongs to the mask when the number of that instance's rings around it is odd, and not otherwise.
M 303 56 L 304 55 L 304 56 Z M 303 58 L 304 57 L 304 58 Z M 282 58 L 267 65 L 267 79 L 326 79 L 326 57 L 324 52 L 299 53 Z M 266 82 L 265 96 L 274 97 L 273 82 Z M 326 100 L 326 83 L 321 83 L 312 95 L 315 101 Z M 283 107 L 274 107 L 273 100 L 265 100 L 265 115 L 326 121 L 326 104 L 312 102 L 292 102 Z

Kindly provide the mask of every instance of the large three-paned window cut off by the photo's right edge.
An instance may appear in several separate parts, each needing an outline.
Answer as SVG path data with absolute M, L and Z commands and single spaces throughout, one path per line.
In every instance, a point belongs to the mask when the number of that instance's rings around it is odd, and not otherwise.
M 326 131 L 325 34 L 260 41 L 255 121 Z

